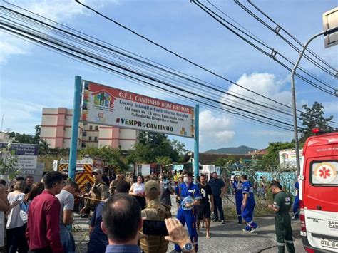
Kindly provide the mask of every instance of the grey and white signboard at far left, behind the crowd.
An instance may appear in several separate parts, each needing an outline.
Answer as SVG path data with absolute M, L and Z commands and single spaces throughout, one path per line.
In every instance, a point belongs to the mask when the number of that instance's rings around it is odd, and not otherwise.
M 7 148 L 9 143 L 0 143 L 0 150 Z M 15 170 L 19 170 L 21 175 L 34 175 L 36 163 L 38 161 L 38 145 L 11 143 L 10 151 L 16 158 Z

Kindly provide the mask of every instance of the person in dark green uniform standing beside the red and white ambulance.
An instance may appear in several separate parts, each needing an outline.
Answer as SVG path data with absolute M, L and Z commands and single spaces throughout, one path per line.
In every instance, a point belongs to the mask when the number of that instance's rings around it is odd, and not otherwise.
M 289 210 L 292 205 L 291 196 L 280 190 L 280 187 L 274 182 L 271 183 L 270 190 L 274 195 L 274 202 L 273 205 L 268 205 L 268 207 L 276 213 L 275 229 L 278 253 L 284 253 L 285 242 L 287 244 L 287 250 L 290 253 L 294 253 L 295 247 L 293 245 L 291 218 L 289 215 Z

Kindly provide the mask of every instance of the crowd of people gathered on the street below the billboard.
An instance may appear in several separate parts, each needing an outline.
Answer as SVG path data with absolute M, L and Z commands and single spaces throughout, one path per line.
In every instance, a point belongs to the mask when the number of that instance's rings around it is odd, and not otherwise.
M 225 224 L 222 197 L 227 186 L 216 172 L 210 180 L 200 175 L 197 183 L 190 171 L 138 175 L 134 182 L 132 172 L 109 180 L 96 169 L 93 178 L 93 185 L 86 185 L 86 194 L 81 195 L 81 215 L 90 218 L 88 252 L 167 252 L 169 242 L 175 243 L 173 252 L 197 252 L 201 223 L 205 224 L 206 239 L 211 238 L 211 220 Z M 35 184 L 32 176 L 17 177 L 10 187 L 1 180 L 0 247 L 6 245 L 6 252 L 76 252 L 71 225 L 78 190 L 76 182 L 60 172 L 48 172 L 43 182 Z M 232 190 L 238 224 L 244 220 L 243 232 L 255 232 L 255 196 L 247 176 L 235 176 Z M 292 230 L 287 220 L 291 199 L 278 182 L 272 182 L 270 190 L 275 194 L 269 208 L 276 212 L 278 247 L 284 250 L 286 242 L 292 252 Z M 175 218 L 172 195 L 177 200 Z M 147 234 L 144 220 L 163 222 L 168 235 Z

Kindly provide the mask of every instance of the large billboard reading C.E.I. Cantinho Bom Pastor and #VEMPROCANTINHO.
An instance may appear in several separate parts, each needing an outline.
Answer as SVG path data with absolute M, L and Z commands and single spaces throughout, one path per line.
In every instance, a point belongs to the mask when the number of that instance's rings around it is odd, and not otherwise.
M 157 98 L 82 83 L 81 121 L 193 138 L 194 108 Z

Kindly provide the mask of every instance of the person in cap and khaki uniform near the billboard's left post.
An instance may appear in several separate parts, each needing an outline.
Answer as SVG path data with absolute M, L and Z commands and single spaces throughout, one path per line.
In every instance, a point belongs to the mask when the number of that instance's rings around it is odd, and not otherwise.
M 93 171 L 94 184 L 91 187 L 90 197 L 91 199 L 86 202 L 86 206 L 82 208 L 81 213 L 86 213 L 88 210 L 95 210 L 96 205 L 101 200 L 106 200 L 108 195 L 108 187 L 105 182 L 102 180 L 102 171 L 101 169 L 96 169 Z

